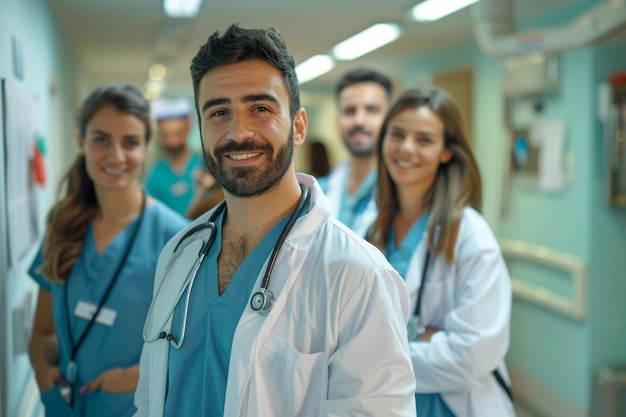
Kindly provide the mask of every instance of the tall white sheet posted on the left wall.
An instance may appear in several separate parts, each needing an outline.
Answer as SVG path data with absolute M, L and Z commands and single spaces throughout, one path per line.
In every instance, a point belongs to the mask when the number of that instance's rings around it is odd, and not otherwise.
M 37 138 L 37 107 L 20 85 L 2 80 L 5 213 L 10 267 L 37 241 L 37 212 L 31 182 L 31 152 Z

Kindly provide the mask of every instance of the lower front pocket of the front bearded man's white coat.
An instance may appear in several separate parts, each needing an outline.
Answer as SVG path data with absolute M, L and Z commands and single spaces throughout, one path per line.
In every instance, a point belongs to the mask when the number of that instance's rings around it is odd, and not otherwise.
M 270 334 L 255 364 L 252 389 L 263 414 L 272 417 L 315 416 L 326 399 L 325 352 L 302 353 Z M 254 398 L 254 394 L 251 398 Z

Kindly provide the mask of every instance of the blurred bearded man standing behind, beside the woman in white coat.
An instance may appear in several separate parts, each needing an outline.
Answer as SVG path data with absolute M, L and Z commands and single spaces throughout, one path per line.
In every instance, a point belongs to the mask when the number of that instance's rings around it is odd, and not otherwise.
M 361 236 L 376 217 L 375 145 L 391 91 L 386 75 L 367 68 L 345 73 L 335 88 L 339 131 L 350 157 L 319 182 L 333 215 Z

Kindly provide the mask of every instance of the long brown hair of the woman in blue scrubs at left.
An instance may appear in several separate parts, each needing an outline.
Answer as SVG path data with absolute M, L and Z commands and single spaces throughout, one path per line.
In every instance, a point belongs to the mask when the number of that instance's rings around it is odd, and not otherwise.
M 79 109 L 76 122 L 81 138 L 87 124 L 104 107 L 136 116 L 146 126 L 146 142 L 152 134 L 150 103 L 141 92 L 128 84 L 108 84 L 94 90 Z M 89 221 L 98 213 L 94 184 L 78 155 L 59 184 L 61 196 L 46 219 L 43 263 L 39 272 L 52 282 L 63 283 L 80 255 Z

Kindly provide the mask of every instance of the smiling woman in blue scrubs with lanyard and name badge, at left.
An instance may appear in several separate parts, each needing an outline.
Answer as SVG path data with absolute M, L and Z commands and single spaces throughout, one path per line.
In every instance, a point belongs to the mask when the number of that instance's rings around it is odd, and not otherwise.
M 78 112 L 80 153 L 47 218 L 30 360 L 47 417 L 131 416 L 157 259 L 186 224 L 138 182 L 150 103 L 101 86 Z

